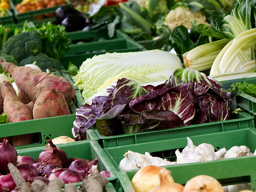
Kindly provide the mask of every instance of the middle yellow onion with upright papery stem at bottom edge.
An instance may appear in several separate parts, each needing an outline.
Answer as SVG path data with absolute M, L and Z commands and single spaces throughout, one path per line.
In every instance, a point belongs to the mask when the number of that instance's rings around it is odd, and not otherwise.
M 170 183 L 168 180 L 169 176 L 171 176 L 169 171 L 163 168 L 159 172 L 160 185 L 150 189 L 149 192 L 182 192 L 184 186 L 179 183 Z

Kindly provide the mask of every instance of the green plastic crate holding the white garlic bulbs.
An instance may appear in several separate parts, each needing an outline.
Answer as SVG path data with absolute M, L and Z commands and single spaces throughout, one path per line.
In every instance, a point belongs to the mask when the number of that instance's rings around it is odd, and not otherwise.
M 252 152 L 256 149 L 256 129 L 248 128 L 236 131 L 227 131 L 216 134 L 205 134 L 190 137 L 195 145 L 201 143 L 210 143 L 216 150 L 225 147 L 227 150 L 237 145 L 246 145 Z M 111 149 L 104 149 L 112 154 L 111 161 L 119 161 L 122 159 L 123 152 L 127 150 L 145 153 L 155 150 L 165 150 L 171 148 L 183 148 L 187 144 L 187 139 L 179 138 L 173 140 L 164 140 L 158 142 L 149 142 L 136 145 L 126 145 L 115 148 L 115 152 Z M 116 156 L 114 156 L 116 155 Z M 120 156 L 120 157 L 117 157 Z M 165 166 L 172 173 L 172 177 L 176 183 L 185 184 L 189 179 L 197 175 L 209 175 L 225 186 L 239 183 L 251 183 L 251 189 L 256 189 L 256 156 L 236 157 L 232 159 L 221 159 L 199 163 L 186 163 L 172 166 Z M 122 185 L 122 191 L 134 192 L 131 185 L 131 179 L 137 170 L 119 172 L 118 177 Z

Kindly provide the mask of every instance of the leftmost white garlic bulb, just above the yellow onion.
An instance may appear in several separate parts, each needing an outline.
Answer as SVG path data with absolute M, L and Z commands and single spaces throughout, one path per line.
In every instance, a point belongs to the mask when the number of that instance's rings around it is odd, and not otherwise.
M 119 167 L 122 171 L 140 169 L 151 165 L 151 160 L 143 154 L 128 151 L 124 156 L 125 158 L 123 158 L 119 163 Z

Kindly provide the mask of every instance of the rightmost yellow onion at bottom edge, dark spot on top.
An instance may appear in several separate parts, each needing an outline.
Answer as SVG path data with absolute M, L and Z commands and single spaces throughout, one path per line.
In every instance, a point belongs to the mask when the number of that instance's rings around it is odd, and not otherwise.
M 224 192 L 221 183 L 208 175 L 198 175 L 188 180 L 183 192 Z

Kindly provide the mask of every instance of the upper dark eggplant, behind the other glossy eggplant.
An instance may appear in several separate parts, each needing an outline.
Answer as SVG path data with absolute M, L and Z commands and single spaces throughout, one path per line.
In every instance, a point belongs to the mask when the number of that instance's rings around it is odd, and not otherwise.
M 58 9 L 55 11 L 55 17 L 58 20 L 58 22 L 62 22 L 65 17 L 70 16 L 70 15 L 81 15 L 83 14 L 79 12 L 78 10 L 70 7 L 70 6 L 60 6 Z

